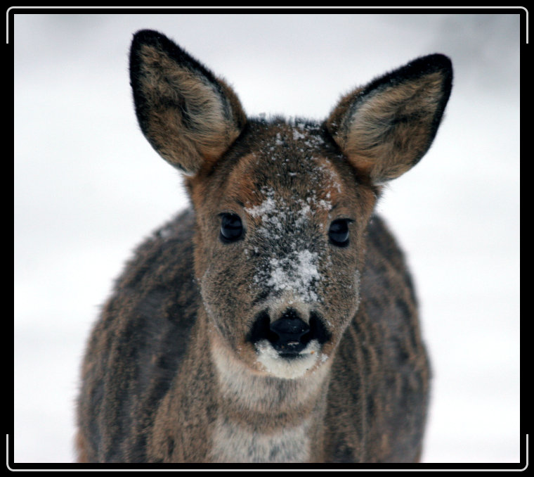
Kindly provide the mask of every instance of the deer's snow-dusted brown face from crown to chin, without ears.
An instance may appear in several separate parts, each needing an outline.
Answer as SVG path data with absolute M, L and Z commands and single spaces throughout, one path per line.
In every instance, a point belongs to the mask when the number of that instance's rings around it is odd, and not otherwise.
M 358 308 L 375 196 L 317 125 L 250 129 L 202 187 L 193 181 L 197 276 L 226 347 L 291 379 L 327 362 Z

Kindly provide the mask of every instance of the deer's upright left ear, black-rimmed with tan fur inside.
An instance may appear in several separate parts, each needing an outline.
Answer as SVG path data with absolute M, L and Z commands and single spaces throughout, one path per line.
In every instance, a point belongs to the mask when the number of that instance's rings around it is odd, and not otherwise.
M 158 32 L 133 36 L 130 82 L 143 134 L 185 174 L 215 163 L 245 126 L 233 90 Z

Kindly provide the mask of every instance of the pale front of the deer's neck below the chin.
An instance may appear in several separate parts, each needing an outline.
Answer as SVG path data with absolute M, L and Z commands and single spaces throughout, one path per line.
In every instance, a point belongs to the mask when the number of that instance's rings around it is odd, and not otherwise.
M 323 447 L 330 365 L 299 379 L 252 371 L 211 330 L 219 411 L 212 433 L 217 462 L 313 462 Z

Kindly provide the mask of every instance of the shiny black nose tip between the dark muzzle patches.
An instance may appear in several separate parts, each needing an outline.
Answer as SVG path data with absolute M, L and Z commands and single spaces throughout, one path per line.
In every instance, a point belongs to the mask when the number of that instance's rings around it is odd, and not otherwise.
M 271 333 L 268 340 L 282 354 L 297 354 L 311 338 L 310 326 L 292 308 L 285 310 L 279 319 L 271 323 L 269 329 Z

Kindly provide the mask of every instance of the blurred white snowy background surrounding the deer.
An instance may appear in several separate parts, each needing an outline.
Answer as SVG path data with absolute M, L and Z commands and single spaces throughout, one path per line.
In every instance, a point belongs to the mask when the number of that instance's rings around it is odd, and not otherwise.
M 249 115 L 322 119 L 417 56 L 452 58 L 434 146 L 378 209 L 408 255 L 434 368 L 423 462 L 519 462 L 519 10 L 176 12 L 15 14 L 15 462 L 73 462 L 98 308 L 134 246 L 187 203 L 133 113 L 127 58 L 141 28 L 226 77 Z

